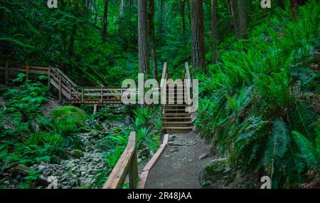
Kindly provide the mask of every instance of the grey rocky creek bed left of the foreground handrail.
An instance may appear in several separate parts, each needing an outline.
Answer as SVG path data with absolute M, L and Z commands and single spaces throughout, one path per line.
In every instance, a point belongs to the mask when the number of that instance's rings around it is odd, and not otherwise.
M 95 182 L 97 172 L 105 167 L 102 158 L 102 150 L 95 147 L 96 143 L 104 137 L 97 132 L 80 133 L 80 140 L 85 145 L 85 150 L 72 150 L 68 159 L 59 160 L 57 164 L 40 162 L 29 167 L 31 170 L 38 171 L 40 179 L 50 179 L 56 181 L 56 186 L 61 189 L 71 189 L 80 187 L 92 187 Z M 21 175 L 8 177 L 4 181 L 7 188 L 16 188 L 22 181 Z M 50 182 L 42 182 L 36 188 L 46 188 Z

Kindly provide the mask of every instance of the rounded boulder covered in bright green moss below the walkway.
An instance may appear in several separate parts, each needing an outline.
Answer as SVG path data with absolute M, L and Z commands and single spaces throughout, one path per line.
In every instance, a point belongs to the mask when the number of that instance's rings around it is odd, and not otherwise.
M 73 118 L 78 126 L 85 125 L 85 121 L 89 119 L 89 115 L 84 110 L 72 105 L 61 106 L 51 111 L 51 118 L 64 120 L 65 118 Z

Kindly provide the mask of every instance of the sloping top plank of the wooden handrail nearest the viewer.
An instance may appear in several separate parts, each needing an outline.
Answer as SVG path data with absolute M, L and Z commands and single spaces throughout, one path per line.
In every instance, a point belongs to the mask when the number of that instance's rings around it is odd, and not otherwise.
M 136 133 L 131 132 L 128 140 L 128 144 L 124 152 L 122 153 L 120 159 L 117 162 L 117 165 L 113 168 L 112 172 L 105 182 L 102 188 L 104 189 L 119 189 L 122 188 L 124 184 L 124 180 L 127 176 L 127 172 L 129 169 L 129 164 L 132 162 L 132 157 L 136 152 Z

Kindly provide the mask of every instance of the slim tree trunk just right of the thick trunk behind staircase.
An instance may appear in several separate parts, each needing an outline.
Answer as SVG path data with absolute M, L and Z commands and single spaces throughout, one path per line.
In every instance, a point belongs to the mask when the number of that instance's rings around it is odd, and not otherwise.
M 217 0 L 211 0 L 211 43 L 212 43 L 212 63 L 217 62 Z

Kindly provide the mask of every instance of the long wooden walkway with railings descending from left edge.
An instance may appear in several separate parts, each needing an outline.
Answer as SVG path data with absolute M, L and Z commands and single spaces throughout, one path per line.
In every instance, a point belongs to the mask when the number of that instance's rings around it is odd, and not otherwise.
M 39 75 L 48 76 L 48 89 L 53 86 L 58 90 L 59 100 L 64 100 L 68 103 L 121 103 L 122 93 L 127 89 L 105 86 L 82 87 L 76 85 L 73 80 L 66 76 L 59 68 L 0 61 L 0 83 L 1 78 L 4 78 L 2 82 L 8 86 L 9 82 L 16 78 L 18 73 L 25 73 L 26 79 L 34 79 Z

